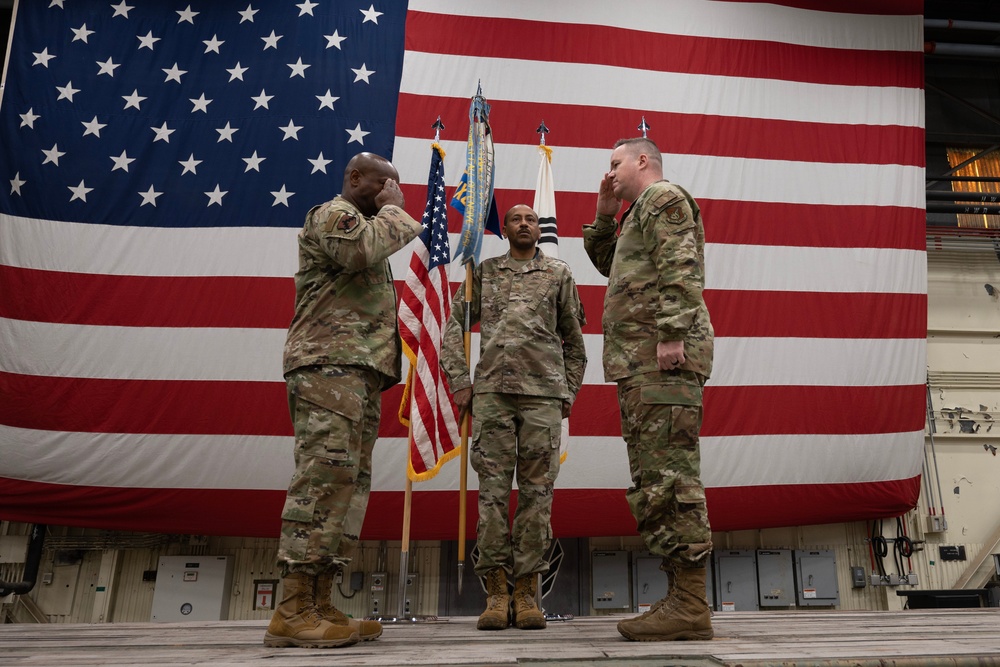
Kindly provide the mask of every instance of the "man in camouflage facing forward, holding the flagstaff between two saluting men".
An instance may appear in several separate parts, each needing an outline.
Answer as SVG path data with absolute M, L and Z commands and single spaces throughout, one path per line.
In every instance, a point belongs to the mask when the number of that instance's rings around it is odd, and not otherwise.
M 504 217 L 510 251 L 487 259 L 472 276 L 471 322 L 480 324 L 475 385 L 463 346 L 465 290 L 455 294 L 441 367 L 467 410 L 472 404 L 472 468 L 479 475 L 479 561 L 489 600 L 480 630 L 509 624 L 507 573 L 514 576 L 514 623 L 544 628 L 535 604 L 537 575 L 552 539 L 552 494 L 559 474 L 562 419 L 569 417 L 587 364 L 585 323 L 569 266 L 536 247 L 538 216 L 518 205 Z M 475 396 L 473 397 L 473 386 Z M 518 500 L 508 531 L 515 477 Z

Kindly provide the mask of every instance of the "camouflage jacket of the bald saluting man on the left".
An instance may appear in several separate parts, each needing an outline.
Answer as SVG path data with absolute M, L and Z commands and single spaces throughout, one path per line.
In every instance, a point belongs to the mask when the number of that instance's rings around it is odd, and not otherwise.
M 317 364 L 365 366 L 382 374 L 383 388 L 399 382 L 396 289 L 388 258 L 422 230 L 398 206 L 383 206 L 366 218 L 341 196 L 306 214 L 285 373 Z

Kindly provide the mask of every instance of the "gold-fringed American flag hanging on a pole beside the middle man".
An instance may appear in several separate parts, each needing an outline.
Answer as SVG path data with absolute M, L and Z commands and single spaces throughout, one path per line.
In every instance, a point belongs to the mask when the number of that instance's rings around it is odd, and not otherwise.
M 410 269 L 399 302 L 399 335 L 410 370 L 400 403 L 400 421 L 410 427 L 407 474 L 422 482 L 460 452 L 458 408 L 441 371 L 441 338 L 451 315 L 451 294 L 445 266 L 451 259 L 444 151 L 431 147 L 424 231 L 414 246 Z

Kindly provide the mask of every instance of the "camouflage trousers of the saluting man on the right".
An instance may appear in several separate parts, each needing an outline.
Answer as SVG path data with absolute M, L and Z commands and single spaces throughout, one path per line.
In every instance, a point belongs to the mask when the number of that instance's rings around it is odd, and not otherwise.
M 646 548 L 680 567 L 703 565 L 712 551 L 698 446 L 703 383 L 662 371 L 618 384 L 632 477 L 625 497 Z

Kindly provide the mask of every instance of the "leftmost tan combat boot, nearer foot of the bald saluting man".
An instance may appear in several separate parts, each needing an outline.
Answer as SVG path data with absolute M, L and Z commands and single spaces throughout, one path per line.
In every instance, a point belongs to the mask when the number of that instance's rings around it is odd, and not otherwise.
M 334 625 L 316 608 L 316 578 L 294 572 L 282 580 L 284 597 L 274 610 L 264 634 L 264 646 L 333 648 L 358 643 L 356 630 Z

